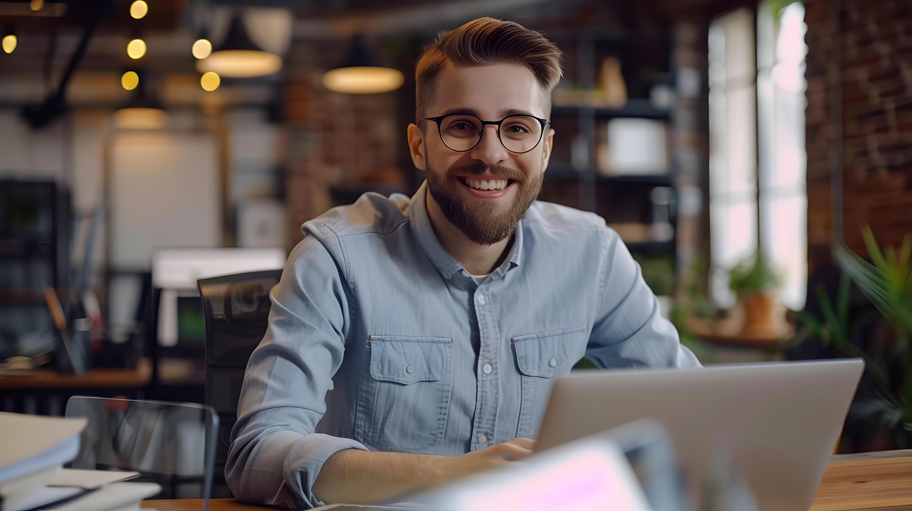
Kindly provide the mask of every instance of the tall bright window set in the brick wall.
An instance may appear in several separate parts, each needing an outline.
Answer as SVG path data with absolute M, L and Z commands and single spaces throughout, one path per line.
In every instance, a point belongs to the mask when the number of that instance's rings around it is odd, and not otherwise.
M 728 270 L 758 244 L 784 272 L 782 301 L 804 307 L 803 18 L 800 3 L 774 12 L 767 2 L 710 26 L 710 294 L 721 308 L 735 300 Z

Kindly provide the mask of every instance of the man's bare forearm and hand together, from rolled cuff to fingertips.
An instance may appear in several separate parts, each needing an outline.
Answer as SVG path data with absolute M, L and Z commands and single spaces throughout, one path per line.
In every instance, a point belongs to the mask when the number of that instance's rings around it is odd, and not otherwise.
M 460 456 L 346 449 L 326 459 L 313 491 L 326 504 L 382 502 L 519 462 L 532 454 L 534 448 L 534 440 L 516 438 Z

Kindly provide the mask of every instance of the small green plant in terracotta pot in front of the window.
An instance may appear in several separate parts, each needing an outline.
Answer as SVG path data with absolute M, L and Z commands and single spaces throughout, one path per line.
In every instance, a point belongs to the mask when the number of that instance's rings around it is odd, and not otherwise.
M 729 271 L 729 287 L 738 296 L 743 311 L 740 337 L 780 339 L 788 328 L 785 307 L 779 297 L 782 272 L 762 252 Z

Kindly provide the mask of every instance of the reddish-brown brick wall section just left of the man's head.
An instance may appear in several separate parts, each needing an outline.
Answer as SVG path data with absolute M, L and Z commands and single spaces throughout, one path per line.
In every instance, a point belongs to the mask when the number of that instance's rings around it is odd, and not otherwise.
M 347 42 L 295 41 L 286 62 L 283 108 L 285 203 L 292 245 L 301 224 L 333 206 L 331 189 L 365 183 L 399 183 L 396 125 L 399 93 L 348 95 L 325 89 L 328 63 L 341 62 Z

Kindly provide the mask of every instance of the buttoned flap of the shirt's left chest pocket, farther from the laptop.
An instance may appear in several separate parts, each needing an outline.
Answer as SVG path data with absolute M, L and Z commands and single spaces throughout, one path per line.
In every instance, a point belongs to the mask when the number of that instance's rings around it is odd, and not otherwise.
M 403 385 L 439 381 L 451 342 L 441 337 L 370 336 L 370 376 Z

